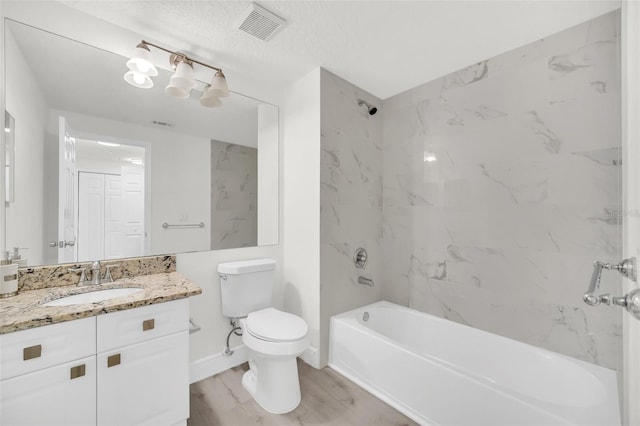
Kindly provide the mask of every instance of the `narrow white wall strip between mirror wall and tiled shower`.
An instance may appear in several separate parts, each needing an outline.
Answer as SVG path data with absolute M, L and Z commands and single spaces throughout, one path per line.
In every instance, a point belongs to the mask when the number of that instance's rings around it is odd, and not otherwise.
M 320 345 L 320 69 L 284 99 L 285 310 L 309 326 L 305 361 L 319 366 Z

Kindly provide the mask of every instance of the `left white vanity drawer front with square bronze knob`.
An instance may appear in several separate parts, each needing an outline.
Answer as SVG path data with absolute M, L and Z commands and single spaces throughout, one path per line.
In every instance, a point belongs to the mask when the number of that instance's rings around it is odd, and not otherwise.
M 19 376 L 96 353 L 96 319 L 0 335 L 0 379 Z

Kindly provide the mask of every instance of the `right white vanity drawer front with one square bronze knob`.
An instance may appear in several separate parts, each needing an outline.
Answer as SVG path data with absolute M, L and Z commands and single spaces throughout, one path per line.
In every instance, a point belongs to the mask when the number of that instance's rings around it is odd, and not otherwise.
M 101 315 L 98 321 L 98 353 L 144 342 L 189 329 L 189 300 Z

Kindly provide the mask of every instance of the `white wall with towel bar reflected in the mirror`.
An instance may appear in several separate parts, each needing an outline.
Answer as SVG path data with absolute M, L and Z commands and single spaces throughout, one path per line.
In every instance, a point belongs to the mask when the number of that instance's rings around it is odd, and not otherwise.
M 147 190 L 149 253 L 209 250 L 210 141 L 165 129 L 116 122 L 69 111 L 51 111 L 50 122 L 64 115 L 70 127 L 87 139 L 145 146 L 150 150 Z M 50 129 L 50 131 L 53 129 Z M 204 222 L 200 229 L 164 229 L 162 223 Z

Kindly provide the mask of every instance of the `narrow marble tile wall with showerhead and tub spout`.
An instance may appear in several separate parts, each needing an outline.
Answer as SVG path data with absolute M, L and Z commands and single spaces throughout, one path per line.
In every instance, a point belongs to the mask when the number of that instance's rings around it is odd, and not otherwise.
M 331 315 L 382 297 L 382 117 L 358 99 L 381 101 L 327 70 L 320 74 L 320 364 Z M 369 254 L 364 269 L 353 256 Z M 372 279 L 374 287 L 358 284 Z

